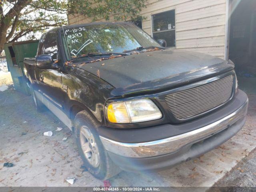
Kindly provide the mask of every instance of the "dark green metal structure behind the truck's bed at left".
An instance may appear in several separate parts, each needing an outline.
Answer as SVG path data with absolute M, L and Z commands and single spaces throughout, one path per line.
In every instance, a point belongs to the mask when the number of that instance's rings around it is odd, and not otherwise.
M 30 90 L 24 77 L 23 60 L 25 57 L 34 58 L 36 56 L 38 42 L 39 40 L 30 40 L 4 45 L 8 70 L 12 75 L 14 88 L 24 94 L 30 94 Z

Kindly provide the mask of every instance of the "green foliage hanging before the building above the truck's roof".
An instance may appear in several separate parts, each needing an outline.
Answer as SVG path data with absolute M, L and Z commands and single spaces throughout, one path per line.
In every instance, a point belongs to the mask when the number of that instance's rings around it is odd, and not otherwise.
M 68 13 L 82 14 L 92 21 L 100 19 L 110 20 L 138 20 L 142 8 L 146 7 L 148 0 L 69 0 Z

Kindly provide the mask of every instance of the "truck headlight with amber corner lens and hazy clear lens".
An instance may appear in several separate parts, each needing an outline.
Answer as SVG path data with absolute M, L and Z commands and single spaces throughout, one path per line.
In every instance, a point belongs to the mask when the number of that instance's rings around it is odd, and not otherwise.
M 150 99 L 112 102 L 107 108 L 111 123 L 136 123 L 160 119 L 162 113 Z

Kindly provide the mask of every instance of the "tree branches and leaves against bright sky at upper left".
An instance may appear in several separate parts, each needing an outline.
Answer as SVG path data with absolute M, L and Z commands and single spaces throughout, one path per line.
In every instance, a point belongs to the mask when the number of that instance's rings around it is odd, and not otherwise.
M 67 23 L 66 1 L 0 0 L 0 53 L 6 42 Z

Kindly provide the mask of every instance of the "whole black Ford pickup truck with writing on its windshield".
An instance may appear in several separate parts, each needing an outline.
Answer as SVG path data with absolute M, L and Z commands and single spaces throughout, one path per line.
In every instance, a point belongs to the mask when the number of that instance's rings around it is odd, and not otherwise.
M 170 168 L 245 123 L 248 98 L 230 60 L 164 48 L 133 24 L 50 30 L 24 63 L 36 108 L 74 132 L 96 178 Z

